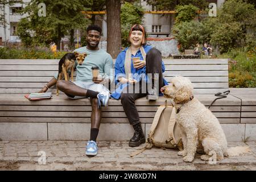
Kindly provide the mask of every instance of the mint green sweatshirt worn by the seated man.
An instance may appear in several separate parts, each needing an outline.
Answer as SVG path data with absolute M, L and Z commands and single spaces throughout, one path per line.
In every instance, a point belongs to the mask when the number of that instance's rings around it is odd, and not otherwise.
M 109 78 L 111 82 L 114 80 L 113 59 L 109 53 L 103 49 L 91 51 L 86 47 L 75 49 L 75 51 L 79 53 L 88 53 L 82 65 L 79 65 L 76 62 L 76 81 L 92 81 L 92 67 L 98 67 L 102 77 Z M 55 75 L 55 78 L 57 79 L 57 75 Z

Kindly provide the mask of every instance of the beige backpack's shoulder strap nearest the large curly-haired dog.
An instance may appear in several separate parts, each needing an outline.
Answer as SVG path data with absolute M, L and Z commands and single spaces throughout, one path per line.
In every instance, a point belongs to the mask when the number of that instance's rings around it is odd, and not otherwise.
M 171 144 L 174 147 L 177 147 L 181 151 L 182 148 L 178 145 L 178 143 L 175 139 L 175 136 L 174 136 L 174 127 L 175 127 L 175 124 L 176 124 L 175 114 L 176 114 L 176 109 L 175 109 L 175 107 L 172 107 L 172 114 L 171 114 L 169 124 L 168 124 L 169 139 L 166 140 L 166 143 L 171 142 Z

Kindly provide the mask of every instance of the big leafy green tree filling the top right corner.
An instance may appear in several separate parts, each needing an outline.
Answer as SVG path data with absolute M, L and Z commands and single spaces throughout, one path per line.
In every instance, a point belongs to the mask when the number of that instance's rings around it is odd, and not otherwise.
M 205 20 L 212 27 L 210 43 L 218 46 L 224 53 L 232 48 L 256 46 L 256 9 L 254 5 L 242 0 L 226 1 L 217 11 L 217 17 Z M 254 46 L 253 46 L 254 44 Z

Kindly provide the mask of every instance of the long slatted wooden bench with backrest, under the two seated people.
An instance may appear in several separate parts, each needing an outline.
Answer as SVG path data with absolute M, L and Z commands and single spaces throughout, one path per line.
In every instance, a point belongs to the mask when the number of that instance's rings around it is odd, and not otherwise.
M 59 60 L 0 60 L 0 139 L 89 138 L 91 107 L 88 99 L 70 100 L 65 94 L 56 96 L 55 88 L 49 89 L 53 93 L 51 100 L 29 101 L 24 98 L 24 94 L 38 92 L 51 80 L 57 72 L 58 62 Z M 214 100 L 214 93 L 229 89 L 226 59 L 172 59 L 164 60 L 164 64 L 166 80 L 170 81 L 177 75 L 190 78 L 196 97 L 205 106 L 209 106 Z M 135 102 L 145 134 L 150 129 L 155 111 L 159 105 L 164 104 L 164 100 L 163 97 L 157 101 L 140 98 Z M 240 98 L 228 96 L 217 100 L 210 108 L 222 123 L 229 140 L 241 140 L 242 135 L 245 139 L 245 124 L 241 124 L 241 103 Z M 121 102 L 110 100 L 109 107 L 102 110 L 98 139 L 129 140 L 133 135 L 133 127 L 129 125 Z M 256 111 L 251 113 L 255 114 Z M 252 116 L 251 118 L 255 118 L 255 115 Z M 240 129 L 241 125 L 244 127 Z M 237 133 L 240 135 L 236 135 Z

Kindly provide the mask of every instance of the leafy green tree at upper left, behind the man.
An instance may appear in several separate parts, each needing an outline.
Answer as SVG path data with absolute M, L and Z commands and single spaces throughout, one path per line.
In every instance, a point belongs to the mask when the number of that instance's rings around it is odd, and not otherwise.
M 38 16 L 38 4 L 41 2 L 46 4 L 46 16 Z M 23 11 L 28 16 L 18 24 L 18 35 L 23 41 L 30 34 L 34 44 L 48 44 L 53 41 L 59 49 L 60 40 L 68 31 L 72 33 L 74 28 L 88 24 L 81 11 L 88 10 L 85 5 L 89 3 L 92 3 L 91 0 L 32 0 Z

